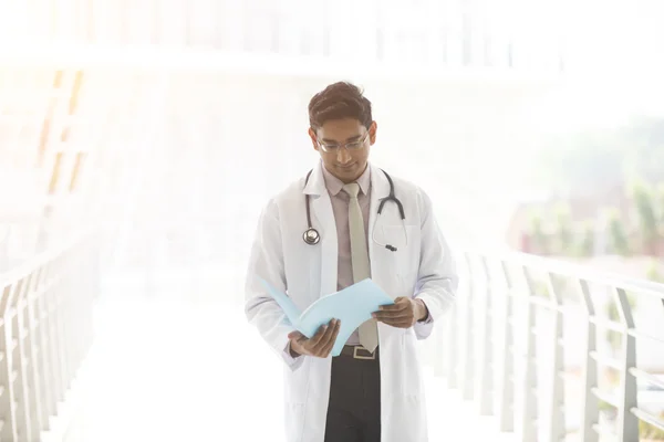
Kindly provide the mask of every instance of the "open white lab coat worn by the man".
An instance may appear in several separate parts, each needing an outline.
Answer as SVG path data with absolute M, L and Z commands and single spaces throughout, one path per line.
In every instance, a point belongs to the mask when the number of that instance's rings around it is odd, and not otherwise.
M 323 442 L 332 357 L 293 359 L 284 351 L 293 327 L 257 276 L 287 292 L 301 309 L 336 291 L 336 228 L 322 167 L 322 162 L 314 167 L 305 187 L 302 177 L 268 202 L 259 220 L 247 275 L 247 317 L 284 362 L 287 442 Z M 392 177 L 405 210 L 406 245 L 396 204 L 385 203 L 382 214 L 376 215 L 380 198 L 388 194 L 390 185 L 378 168 L 370 167 L 372 278 L 393 298 L 422 298 L 434 319 L 408 329 L 378 323 L 381 441 L 423 442 L 427 441 L 427 422 L 416 339 L 428 337 L 434 323 L 453 303 L 457 276 L 427 194 L 413 183 Z M 307 230 L 305 193 L 311 197 L 312 224 L 321 234 L 317 245 L 302 240 Z M 377 243 L 392 244 L 397 251 Z

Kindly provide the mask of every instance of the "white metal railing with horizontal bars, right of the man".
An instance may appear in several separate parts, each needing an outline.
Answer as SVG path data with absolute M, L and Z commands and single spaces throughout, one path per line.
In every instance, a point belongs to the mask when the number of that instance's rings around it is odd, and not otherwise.
M 637 389 L 664 390 L 652 372 L 664 369 L 664 285 L 525 254 L 467 252 L 460 264 L 434 367 L 500 431 L 529 442 L 636 442 L 640 422 L 664 431 L 664 391 L 649 404 Z M 620 337 L 613 349 L 602 332 Z

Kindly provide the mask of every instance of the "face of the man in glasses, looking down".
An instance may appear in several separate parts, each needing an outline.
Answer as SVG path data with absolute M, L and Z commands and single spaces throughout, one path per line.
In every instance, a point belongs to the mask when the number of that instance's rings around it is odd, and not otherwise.
M 355 181 L 366 169 L 370 147 L 376 140 L 376 123 L 369 130 L 356 119 L 325 122 L 317 131 L 309 129 L 313 148 L 325 169 L 343 182 Z

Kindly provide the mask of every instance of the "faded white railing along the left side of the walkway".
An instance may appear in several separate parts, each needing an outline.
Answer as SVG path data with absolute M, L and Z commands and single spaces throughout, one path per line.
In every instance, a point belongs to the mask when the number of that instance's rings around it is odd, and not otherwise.
M 0 440 L 40 441 L 93 338 L 91 234 L 0 274 Z

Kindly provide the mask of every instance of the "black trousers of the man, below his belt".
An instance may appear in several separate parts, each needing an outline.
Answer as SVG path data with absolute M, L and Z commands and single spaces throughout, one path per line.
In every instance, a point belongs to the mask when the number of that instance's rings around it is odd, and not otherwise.
M 381 442 L 380 354 L 372 360 L 332 359 L 325 442 Z

